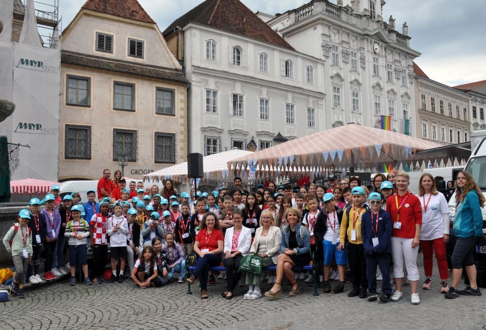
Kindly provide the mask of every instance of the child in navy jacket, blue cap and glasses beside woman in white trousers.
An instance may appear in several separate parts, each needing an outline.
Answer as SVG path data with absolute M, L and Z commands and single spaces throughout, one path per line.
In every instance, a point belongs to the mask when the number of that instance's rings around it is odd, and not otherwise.
M 368 197 L 371 210 L 361 216 L 361 237 L 366 257 L 366 275 L 368 278 L 368 301 L 378 299 L 379 303 L 390 300 L 390 257 L 391 257 L 391 218 L 381 208 L 381 195 L 372 192 Z M 376 293 L 376 270 L 381 269 L 382 294 Z

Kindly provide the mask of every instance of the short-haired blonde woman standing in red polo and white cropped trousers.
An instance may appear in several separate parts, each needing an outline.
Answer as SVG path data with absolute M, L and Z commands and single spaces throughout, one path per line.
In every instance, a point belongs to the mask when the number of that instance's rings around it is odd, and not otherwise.
M 410 177 L 400 172 L 396 175 L 397 193 L 388 197 L 386 211 L 392 220 L 391 250 L 393 259 L 393 276 L 396 291 L 391 296 L 392 301 L 400 300 L 403 274 L 403 260 L 407 267 L 407 278 L 410 280 L 412 304 L 420 304 L 417 286 L 419 270 L 417 254 L 419 252 L 420 229 L 422 227 L 422 204 L 420 199 L 408 190 Z

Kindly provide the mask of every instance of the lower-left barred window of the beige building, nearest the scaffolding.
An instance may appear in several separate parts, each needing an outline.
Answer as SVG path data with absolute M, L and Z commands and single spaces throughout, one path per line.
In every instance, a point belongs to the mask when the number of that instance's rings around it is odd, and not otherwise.
M 91 126 L 66 125 L 64 158 L 91 159 Z

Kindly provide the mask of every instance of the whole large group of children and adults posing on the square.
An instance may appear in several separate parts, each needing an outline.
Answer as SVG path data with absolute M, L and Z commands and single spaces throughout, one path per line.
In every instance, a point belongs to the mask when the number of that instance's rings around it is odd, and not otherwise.
M 276 266 L 276 271 L 247 271 L 243 281 L 248 292 L 242 298 L 278 298 L 284 278 L 292 285 L 288 296 L 293 297 L 300 291 L 298 280 L 317 280 L 303 270 L 314 256 L 324 293 L 342 293 L 349 269 L 348 297 L 398 301 L 407 279 L 411 303 L 419 304 L 419 245 L 425 270 L 422 289 L 432 288 L 435 254 L 439 291 L 446 298 L 481 294 L 472 252 L 482 236 L 480 207 L 485 201 L 467 172 L 457 176 L 451 285 L 446 258 L 449 208 L 430 174 L 421 176 L 417 195 L 409 191 L 409 175 L 396 170 L 374 176 L 371 187 L 362 186 L 359 177 L 338 182 L 330 175 L 327 186 L 277 187 L 267 182 L 249 192 L 235 178 L 231 189 L 178 194 L 171 180 L 165 181 L 163 189 L 156 185 L 144 189 L 142 182 L 130 182 L 127 188 L 118 172 L 110 180 L 111 173 L 105 170 L 97 191 L 87 192 L 87 201 L 76 191 L 61 199 L 55 185 L 42 201 L 32 198 L 30 209 L 20 211 L 3 238 L 16 270 L 12 294 L 24 297 L 26 279 L 35 284 L 68 271 L 68 283 L 76 285 L 79 265 L 87 285 L 127 278 L 140 288 L 199 281 L 200 298 L 206 299 L 208 285 L 214 285 L 218 275 L 211 267 L 222 264 L 226 272 L 218 278 L 226 279 L 226 287 L 221 296 L 233 299 L 242 276 L 241 260 L 255 255 L 262 258 L 263 268 Z M 189 273 L 188 255 L 196 260 L 195 270 Z M 458 291 L 463 266 L 469 285 Z M 262 293 L 263 276 L 272 286 Z M 382 279 L 381 294 L 377 277 Z M 331 279 L 337 284 L 331 286 Z

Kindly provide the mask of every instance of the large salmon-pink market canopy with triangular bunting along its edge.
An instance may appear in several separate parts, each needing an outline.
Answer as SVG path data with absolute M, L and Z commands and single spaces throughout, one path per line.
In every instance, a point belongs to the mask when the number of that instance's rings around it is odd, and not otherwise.
M 251 167 L 257 172 L 257 180 L 264 178 L 267 169 L 282 176 L 321 176 L 328 171 L 344 172 L 351 166 L 366 172 L 384 172 L 385 168 L 422 167 L 425 160 L 435 162 L 430 155 L 416 152 L 439 146 L 392 131 L 349 124 L 228 161 L 228 169 L 246 172 Z

